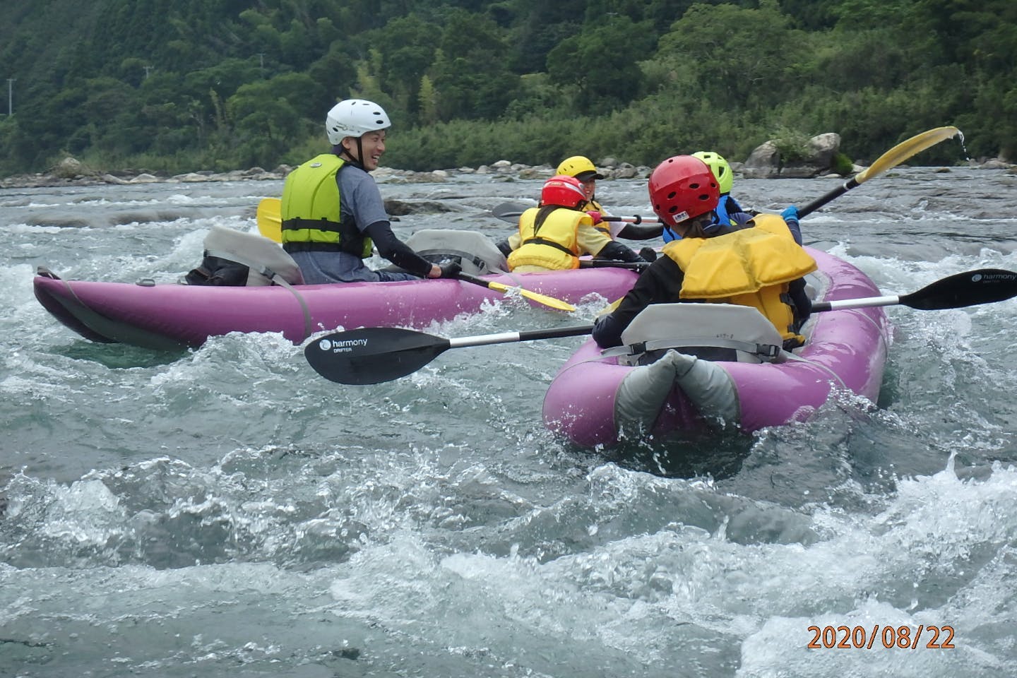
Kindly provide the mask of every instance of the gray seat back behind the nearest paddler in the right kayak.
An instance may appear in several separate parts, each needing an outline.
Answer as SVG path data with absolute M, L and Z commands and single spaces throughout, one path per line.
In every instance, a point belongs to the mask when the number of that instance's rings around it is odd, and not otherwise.
M 647 354 L 667 349 L 739 363 L 786 358 L 773 323 L 758 309 L 735 304 L 651 304 L 621 332 L 621 342 L 604 355 L 618 356 L 622 365 L 642 364 Z

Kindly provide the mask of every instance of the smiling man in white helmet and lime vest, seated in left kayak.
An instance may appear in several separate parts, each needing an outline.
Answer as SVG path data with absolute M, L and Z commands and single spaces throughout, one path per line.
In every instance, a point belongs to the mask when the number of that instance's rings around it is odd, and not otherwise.
M 371 283 L 418 278 L 456 278 L 458 263 L 437 265 L 414 252 L 392 232 L 374 178 L 384 152 L 388 116 L 363 99 L 340 102 L 328 111 L 325 132 L 332 152 L 307 161 L 283 187 L 282 240 L 304 282 Z M 372 245 L 404 271 L 372 270 L 364 264 Z

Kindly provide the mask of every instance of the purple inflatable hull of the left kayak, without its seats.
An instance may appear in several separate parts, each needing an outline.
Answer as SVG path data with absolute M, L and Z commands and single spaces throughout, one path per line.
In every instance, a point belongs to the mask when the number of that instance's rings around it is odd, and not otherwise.
M 576 303 L 598 293 L 625 294 L 638 273 L 622 268 L 484 275 Z M 344 283 L 271 287 L 201 287 L 35 278 L 36 298 L 60 322 L 94 342 L 156 350 L 198 347 L 228 332 L 282 332 L 300 344 L 337 327 L 424 327 L 504 295 L 460 281 Z M 540 306 L 531 301 L 532 305 Z

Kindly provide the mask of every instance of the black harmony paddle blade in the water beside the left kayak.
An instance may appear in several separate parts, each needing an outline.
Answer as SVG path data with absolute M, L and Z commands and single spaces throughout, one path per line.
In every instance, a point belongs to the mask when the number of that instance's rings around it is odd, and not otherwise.
M 314 340 L 304 357 L 330 381 L 374 384 L 416 372 L 448 348 L 448 340 L 412 329 L 362 327 Z

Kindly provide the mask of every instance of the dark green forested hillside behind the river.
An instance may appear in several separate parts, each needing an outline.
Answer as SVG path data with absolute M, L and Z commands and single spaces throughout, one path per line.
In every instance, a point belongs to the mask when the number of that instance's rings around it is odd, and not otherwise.
M 385 107 L 383 163 L 414 170 L 743 160 L 825 131 L 864 160 L 948 124 L 1017 157 L 1013 0 L 4 0 L 0 19 L 0 175 L 297 164 L 350 97 Z

